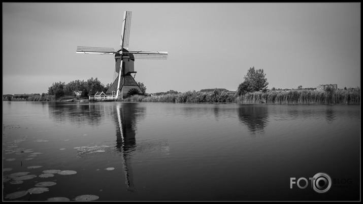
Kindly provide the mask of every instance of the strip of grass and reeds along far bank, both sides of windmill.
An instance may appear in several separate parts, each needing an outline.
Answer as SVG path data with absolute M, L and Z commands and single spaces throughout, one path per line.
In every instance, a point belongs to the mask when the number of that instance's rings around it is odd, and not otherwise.
M 3 100 L 7 100 L 3 98 Z M 84 97 L 63 96 L 58 99 L 53 95 L 33 95 L 26 99 L 14 101 L 92 101 Z M 183 93 L 168 93 L 164 95 L 134 95 L 118 101 L 125 102 L 162 102 L 162 103 L 236 103 L 236 104 L 360 104 L 360 89 L 354 90 L 291 90 L 248 92 L 236 96 L 235 91 L 187 91 Z

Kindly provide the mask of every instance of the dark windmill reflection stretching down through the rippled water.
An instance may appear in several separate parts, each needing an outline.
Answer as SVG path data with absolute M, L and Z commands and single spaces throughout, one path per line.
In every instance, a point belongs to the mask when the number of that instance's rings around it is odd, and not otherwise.
M 137 103 L 122 103 L 114 107 L 116 107 L 116 148 L 122 154 L 127 190 L 135 192 L 130 153 L 136 149 L 136 124 L 144 117 L 145 107 L 140 107 Z

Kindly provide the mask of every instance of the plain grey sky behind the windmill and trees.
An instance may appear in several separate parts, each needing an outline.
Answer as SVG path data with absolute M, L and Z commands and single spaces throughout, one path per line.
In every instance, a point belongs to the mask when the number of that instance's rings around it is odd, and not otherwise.
M 55 82 L 112 83 L 131 11 L 129 50 L 147 93 L 236 90 L 250 67 L 268 88 L 360 87 L 360 3 L 3 3 L 3 94 L 47 93 Z

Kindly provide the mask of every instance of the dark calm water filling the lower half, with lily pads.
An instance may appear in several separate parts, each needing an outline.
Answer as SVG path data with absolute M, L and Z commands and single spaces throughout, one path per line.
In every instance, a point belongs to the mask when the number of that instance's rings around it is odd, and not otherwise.
M 360 106 L 3 101 L 5 168 L 3 200 L 360 200 Z M 326 193 L 290 188 L 317 173 Z

